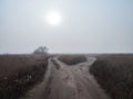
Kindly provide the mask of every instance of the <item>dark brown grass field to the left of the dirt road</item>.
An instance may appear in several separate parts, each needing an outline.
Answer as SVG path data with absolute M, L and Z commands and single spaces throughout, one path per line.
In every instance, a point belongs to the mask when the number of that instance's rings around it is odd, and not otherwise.
M 18 99 L 41 81 L 45 56 L 0 55 L 0 99 Z

